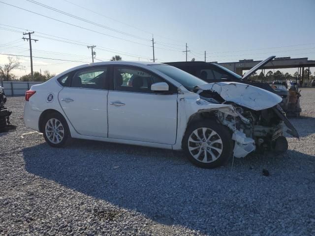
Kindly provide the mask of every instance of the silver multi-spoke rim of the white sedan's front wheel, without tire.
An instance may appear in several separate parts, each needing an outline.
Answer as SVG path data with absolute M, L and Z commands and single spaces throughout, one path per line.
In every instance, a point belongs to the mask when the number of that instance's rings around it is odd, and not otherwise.
M 197 161 L 210 163 L 217 160 L 222 153 L 222 139 L 210 128 L 195 129 L 189 136 L 188 149 Z

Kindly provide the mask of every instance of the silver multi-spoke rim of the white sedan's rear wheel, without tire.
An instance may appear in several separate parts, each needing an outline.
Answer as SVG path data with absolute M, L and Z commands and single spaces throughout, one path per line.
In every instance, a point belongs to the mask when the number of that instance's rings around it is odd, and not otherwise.
M 60 122 L 60 120 L 51 118 L 46 123 L 45 133 L 51 143 L 59 144 L 61 141 L 63 141 L 63 124 Z

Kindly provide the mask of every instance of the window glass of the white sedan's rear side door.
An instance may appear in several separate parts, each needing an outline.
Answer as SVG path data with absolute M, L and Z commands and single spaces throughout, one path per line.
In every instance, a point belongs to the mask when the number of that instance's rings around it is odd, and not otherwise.
M 71 79 L 71 87 L 86 89 L 104 89 L 107 68 L 95 68 L 79 71 Z

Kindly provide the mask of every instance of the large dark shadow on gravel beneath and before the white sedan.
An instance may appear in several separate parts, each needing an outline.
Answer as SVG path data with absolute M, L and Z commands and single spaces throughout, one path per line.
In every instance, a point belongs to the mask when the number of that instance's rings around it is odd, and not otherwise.
M 288 150 L 282 156 L 236 159 L 233 171 L 231 161 L 204 170 L 171 150 L 80 140 L 64 149 L 47 144 L 24 148 L 23 155 L 29 173 L 141 212 L 157 224 L 212 234 L 232 232 L 236 224 L 255 225 L 257 220 L 277 224 L 275 204 L 280 208 L 287 205 L 285 198 L 291 188 L 297 195 L 304 192 L 299 180 L 287 173 L 310 172 L 315 164 L 313 156 Z M 263 168 L 270 177 L 261 175 Z M 286 207 L 293 210 L 296 205 L 291 205 Z

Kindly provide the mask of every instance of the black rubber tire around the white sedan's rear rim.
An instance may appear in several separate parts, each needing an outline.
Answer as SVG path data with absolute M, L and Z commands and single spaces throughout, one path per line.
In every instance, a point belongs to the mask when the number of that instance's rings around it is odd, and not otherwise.
M 50 139 L 47 137 L 47 134 L 45 131 L 45 126 L 46 126 L 48 120 L 50 120 L 50 119 L 59 120 L 63 126 L 63 137 L 62 137 L 62 140 L 60 143 L 52 143 L 50 141 Z M 71 139 L 68 124 L 60 113 L 54 112 L 54 113 L 47 115 L 45 118 L 43 118 L 41 127 L 42 127 L 41 130 L 43 131 L 45 141 L 47 142 L 47 144 L 49 144 L 53 148 L 63 148 L 69 143 L 69 141 Z

